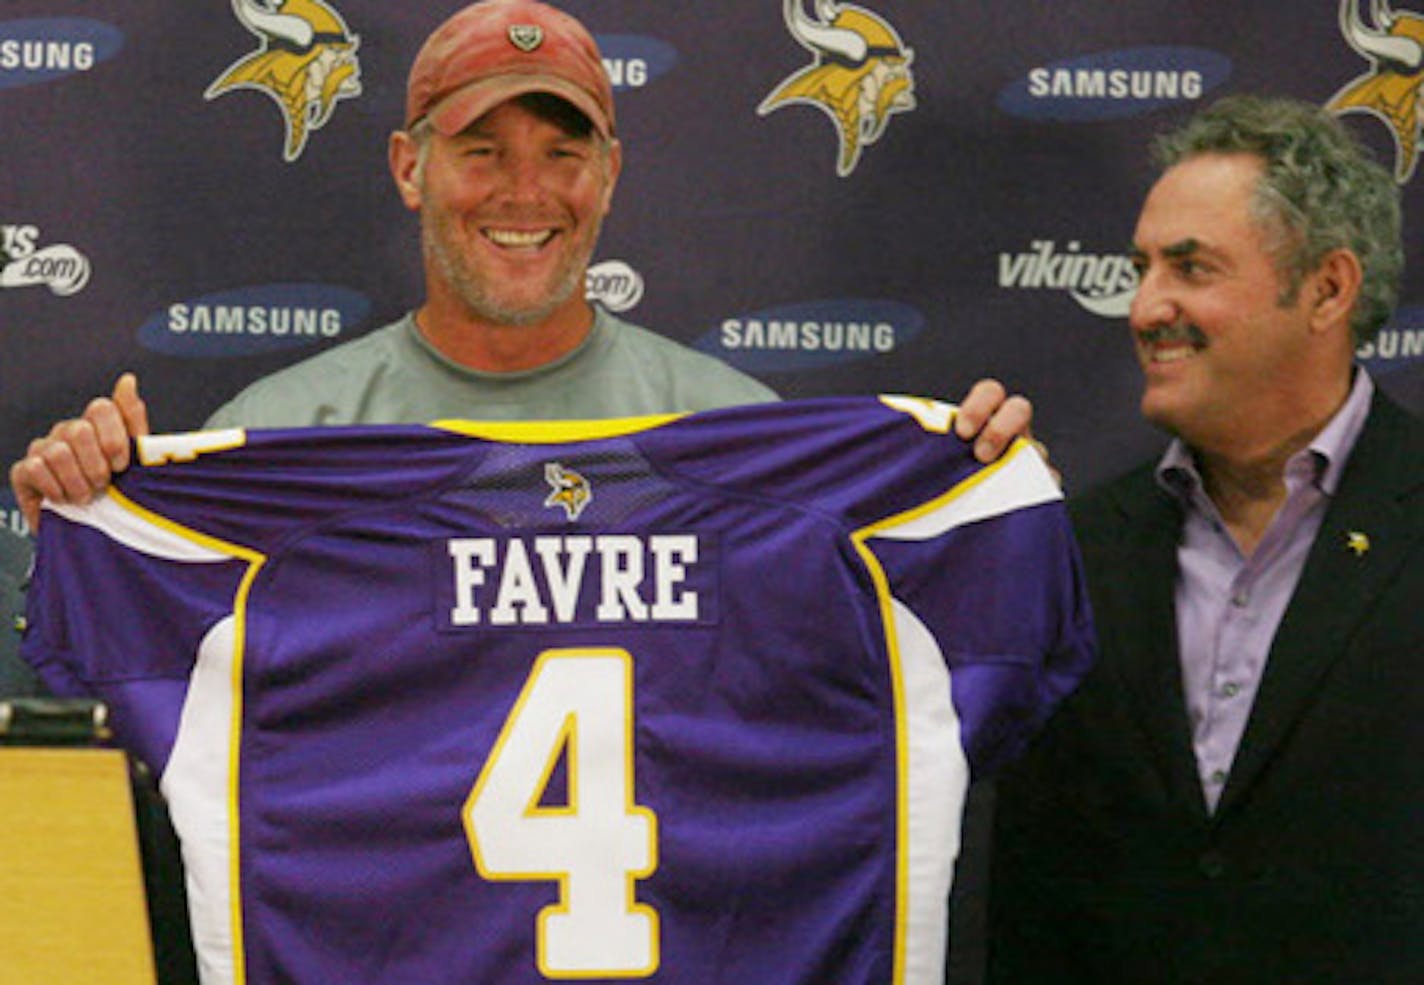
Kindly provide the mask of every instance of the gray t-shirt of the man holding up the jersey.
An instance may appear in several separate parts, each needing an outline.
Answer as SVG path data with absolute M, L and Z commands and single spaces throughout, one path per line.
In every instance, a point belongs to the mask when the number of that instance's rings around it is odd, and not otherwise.
M 406 315 L 266 376 L 208 427 L 591 420 L 776 400 L 752 377 L 595 306 L 588 339 L 523 373 L 480 373 L 441 356 Z

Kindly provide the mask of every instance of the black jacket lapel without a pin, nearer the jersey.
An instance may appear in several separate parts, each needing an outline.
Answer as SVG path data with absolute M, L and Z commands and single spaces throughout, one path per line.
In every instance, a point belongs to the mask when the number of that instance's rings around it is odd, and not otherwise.
M 1108 572 L 1115 589 L 1101 594 L 1105 611 L 1098 618 L 1099 628 L 1112 633 L 1104 639 L 1104 652 L 1118 655 L 1112 668 L 1169 799 L 1205 820 L 1176 645 L 1173 572 L 1182 514 L 1151 471 L 1116 505 L 1122 530 L 1115 569 Z

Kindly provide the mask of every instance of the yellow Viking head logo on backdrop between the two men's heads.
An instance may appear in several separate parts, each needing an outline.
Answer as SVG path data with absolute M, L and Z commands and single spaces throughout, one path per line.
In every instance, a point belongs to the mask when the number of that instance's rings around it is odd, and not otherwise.
M 756 114 L 802 102 L 827 114 L 840 137 L 836 174 L 856 169 L 860 152 L 880 139 L 896 112 L 914 108 L 914 51 L 890 24 L 864 7 L 816 0 L 816 19 L 802 0 L 785 0 L 786 28 L 816 61 L 782 80 Z

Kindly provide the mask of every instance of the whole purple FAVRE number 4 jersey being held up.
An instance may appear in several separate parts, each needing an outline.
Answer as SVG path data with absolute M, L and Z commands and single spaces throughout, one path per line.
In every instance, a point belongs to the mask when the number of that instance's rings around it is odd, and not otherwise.
M 205 982 L 943 979 L 970 771 L 1077 683 L 1059 492 L 953 409 L 208 431 L 40 531 Z

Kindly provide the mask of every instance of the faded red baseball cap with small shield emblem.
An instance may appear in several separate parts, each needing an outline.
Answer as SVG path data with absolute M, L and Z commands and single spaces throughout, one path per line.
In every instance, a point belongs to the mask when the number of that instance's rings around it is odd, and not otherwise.
M 481 0 L 422 46 L 406 87 L 406 128 L 429 118 L 453 137 L 525 93 L 567 100 L 612 138 L 612 84 L 584 26 L 535 0 Z

